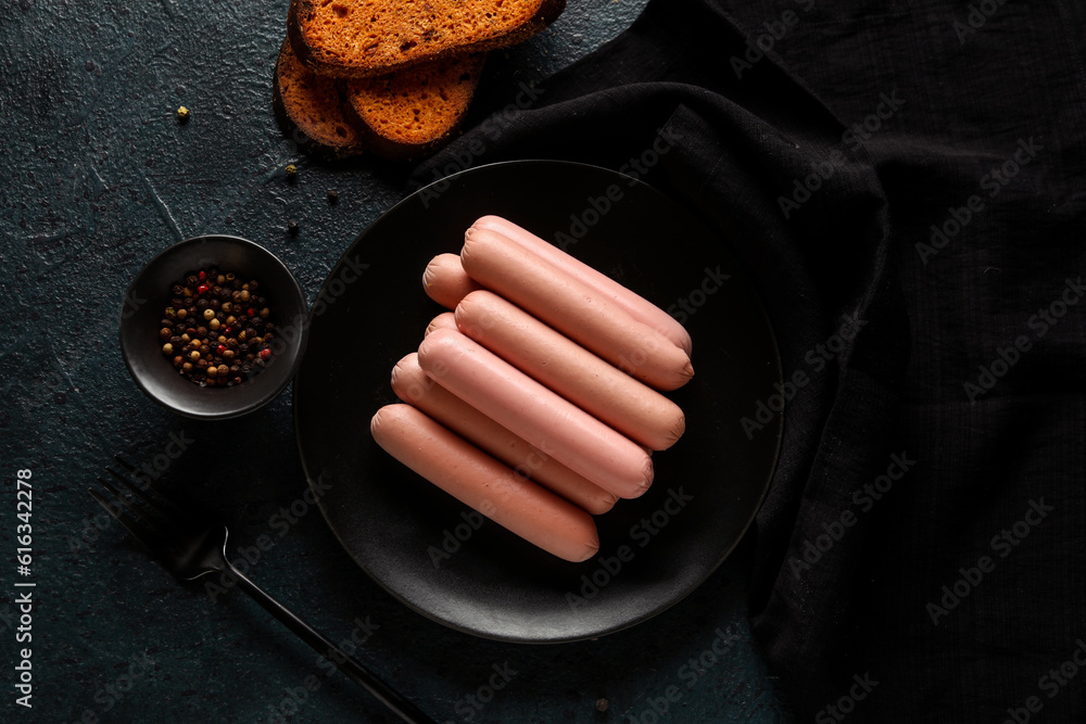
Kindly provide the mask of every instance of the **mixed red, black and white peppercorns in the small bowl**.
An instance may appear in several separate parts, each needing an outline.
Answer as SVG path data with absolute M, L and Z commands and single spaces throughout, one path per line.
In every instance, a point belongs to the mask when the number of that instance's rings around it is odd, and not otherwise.
M 159 329 L 162 354 L 178 372 L 206 388 L 241 384 L 260 372 L 272 358 L 275 334 L 257 281 L 216 268 L 171 287 Z

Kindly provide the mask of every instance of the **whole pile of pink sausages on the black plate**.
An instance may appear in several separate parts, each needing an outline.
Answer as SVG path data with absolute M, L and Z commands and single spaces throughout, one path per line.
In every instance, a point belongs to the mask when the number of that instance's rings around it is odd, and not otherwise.
M 392 370 L 406 404 L 374 416 L 377 443 L 522 538 L 569 561 L 599 548 L 592 516 L 653 482 L 653 450 L 685 430 L 659 391 L 694 374 L 671 316 L 521 227 L 478 219 L 434 257 L 447 309 Z

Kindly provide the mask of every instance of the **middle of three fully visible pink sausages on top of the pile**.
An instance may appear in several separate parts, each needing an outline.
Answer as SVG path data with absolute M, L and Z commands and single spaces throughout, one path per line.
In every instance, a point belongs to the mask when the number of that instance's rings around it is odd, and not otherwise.
M 585 412 L 654 450 L 686 429 L 673 402 L 487 290 L 456 305 L 456 326 Z

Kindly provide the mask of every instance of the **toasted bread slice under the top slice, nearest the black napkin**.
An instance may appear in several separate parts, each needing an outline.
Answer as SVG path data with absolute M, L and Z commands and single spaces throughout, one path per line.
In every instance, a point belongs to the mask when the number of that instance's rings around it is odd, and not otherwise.
M 426 155 L 460 125 L 485 61 L 485 53 L 472 53 L 344 81 L 343 111 L 374 153 L 392 160 Z

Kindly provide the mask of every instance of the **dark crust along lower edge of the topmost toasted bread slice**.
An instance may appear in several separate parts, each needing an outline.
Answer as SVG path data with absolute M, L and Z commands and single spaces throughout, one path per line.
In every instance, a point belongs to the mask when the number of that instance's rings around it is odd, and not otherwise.
M 409 52 L 392 55 L 390 51 L 374 52 L 372 58 L 364 53 L 352 53 L 343 56 L 337 52 L 321 48 L 306 33 L 303 18 L 315 15 L 321 0 L 291 0 L 287 16 L 287 37 L 294 48 L 298 60 L 320 75 L 336 78 L 367 78 L 386 73 L 403 71 L 419 63 L 428 63 L 483 52 L 495 48 L 505 48 L 527 40 L 547 25 L 553 23 L 566 9 L 566 0 L 540 0 L 534 14 L 520 25 L 496 35 L 484 35 L 481 38 L 462 37 L 443 43 L 427 43 L 412 46 Z M 327 3 L 325 3 L 327 4 Z M 414 39 L 409 40 L 414 42 Z

